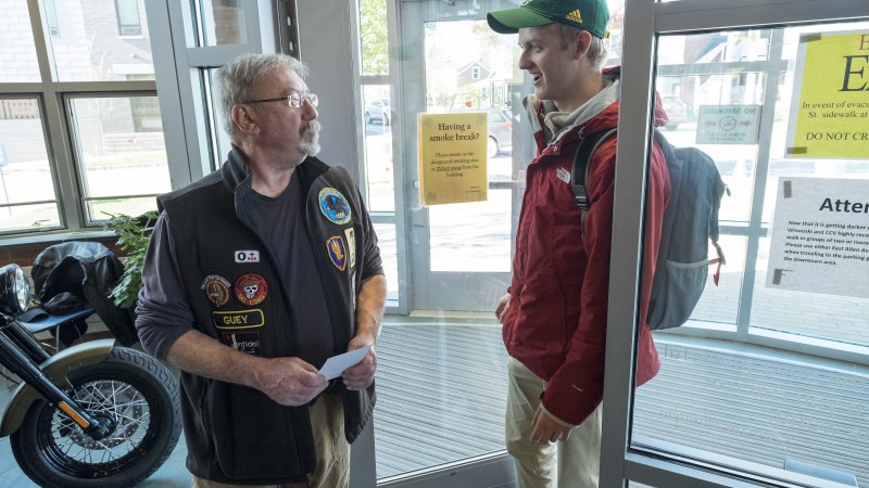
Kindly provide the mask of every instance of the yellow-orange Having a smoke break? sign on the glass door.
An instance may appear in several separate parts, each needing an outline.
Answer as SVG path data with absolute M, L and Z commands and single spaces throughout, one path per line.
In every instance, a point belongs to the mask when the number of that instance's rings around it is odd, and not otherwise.
M 486 125 L 482 112 L 419 115 L 423 205 L 487 200 Z

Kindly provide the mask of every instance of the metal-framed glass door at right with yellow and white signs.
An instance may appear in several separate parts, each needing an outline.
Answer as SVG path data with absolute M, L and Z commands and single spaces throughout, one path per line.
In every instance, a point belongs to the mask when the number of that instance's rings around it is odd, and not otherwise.
M 866 486 L 869 249 L 865 214 L 844 211 L 865 198 L 839 195 L 869 188 L 867 85 L 848 64 L 867 59 L 867 4 L 629 0 L 625 15 L 619 133 L 641 137 L 619 140 L 615 218 L 641 207 L 643 168 L 622 162 L 648 164 L 657 93 L 667 139 L 729 188 L 727 264 L 685 325 L 653 333 L 660 370 L 631 396 L 638 310 L 612 305 L 637 303 L 642 229 L 614 229 L 601 485 Z

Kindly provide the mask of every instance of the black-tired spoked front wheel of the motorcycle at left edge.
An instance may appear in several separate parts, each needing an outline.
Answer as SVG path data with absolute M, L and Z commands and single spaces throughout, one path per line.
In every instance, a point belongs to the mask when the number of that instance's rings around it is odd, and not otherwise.
M 10 444 L 22 471 L 43 487 L 128 487 L 152 475 L 181 434 L 178 383 L 155 358 L 124 347 L 73 370 L 71 398 L 114 425 L 95 440 L 53 404 L 30 406 Z

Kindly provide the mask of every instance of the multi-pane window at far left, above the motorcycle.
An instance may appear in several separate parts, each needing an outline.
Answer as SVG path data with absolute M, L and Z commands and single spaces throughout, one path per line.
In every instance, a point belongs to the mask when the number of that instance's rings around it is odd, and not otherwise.
M 116 2 L 122 27 L 143 37 L 131 42 L 112 41 L 99 0 L 0 4 L 15 18 L 0 38 L 47 39 L 0 43 L 0 234 L 98 230 L 109 214 L 154 209 L 171 184 L 141 0 Z

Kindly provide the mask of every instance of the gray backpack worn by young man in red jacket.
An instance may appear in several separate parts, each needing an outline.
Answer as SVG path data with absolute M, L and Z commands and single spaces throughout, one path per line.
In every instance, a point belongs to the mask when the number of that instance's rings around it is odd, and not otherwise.
M 585 181 L 591 157 L 616 129 L 580 140 L 574 157 L 571 184 L 584 219 L 589 209 Z M 713 277 L 718 285 L 725 254 L 718 245 L 718 209 L 725 191 L 730 194 L 715 162 L 696 147 L 673 147 L 655 129 L 670 172 L 670 201 L 664 210 L 660 245 L 652 280 L 646 321 L 652 330 L 678 328 L 688 321 L 706 286 L 707 268 L 718 265 Z M 709 259 L 709 242 L 718 257 Z

